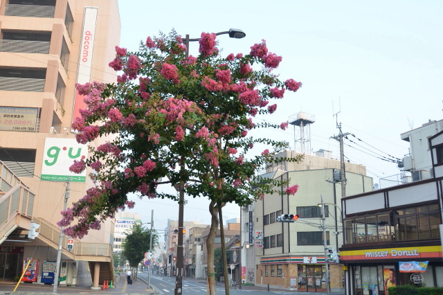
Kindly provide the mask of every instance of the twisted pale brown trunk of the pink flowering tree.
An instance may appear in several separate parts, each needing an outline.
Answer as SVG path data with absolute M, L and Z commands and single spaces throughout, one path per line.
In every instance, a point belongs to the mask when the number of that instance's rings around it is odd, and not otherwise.
M 219 220 L 217 217 L 218 209 L 215 208 L 215 202 L 211 201 L 209 204 L 209 212 L 211 215 L 210 229 L 208 238 L 206 238 L 206 250 L 208 251 L 208 290 L 209 295 L 215 294 L 215 267 L 214 267 L 214 238 L 219 227 Z

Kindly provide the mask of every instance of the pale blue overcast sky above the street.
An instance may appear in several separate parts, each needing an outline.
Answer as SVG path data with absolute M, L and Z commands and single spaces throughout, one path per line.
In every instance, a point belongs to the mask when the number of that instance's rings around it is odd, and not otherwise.
M 266 40 L 269 51 L 281 55 L 274 72 L 282 80 L 303 83 L 297 93 L 278 101 L 268 118 L 282 123 L 305 111 L 315 116 L 311 125 L 312 150 L 331 150 L 338 155 L 336 121 L 343 132 L 382 156 L 402 159 L 408 143 L 400 134 L 428 120 L 442 119 L 443 1 L 146 1 L 119 0 L 120 46 L 135 51 L 147 36 L 169 33 L 199 37 L 240 28 L 244 39 L 217 39 L 221 55 L 249 53 L 250 47 Z M 191 43 L 190 54 L 198 54 Z M 333 116 L 338 113 L 337 116 Z M 257 120 L 257 122 L 260 122 Z M 293 147 L 294 130 L 266 134 L 286 140 Z M 349 143 L 352 145 L 352 143 Z M 397 175 L 388 163 L 345 145 L 345 157 L 363 164 L 374 183 Z M 377 149 L 377 150 L 376 150 Z M 258 152 L 258 151 L 257 151 Z M 177 220 L 178 205 L 161 199 L 138 200 L 132 211 L 164 229 L 166 220 Z M 224 216 L 239 217 L 237 206 L 228 206 Z M 210 222 L 208 202 L 189 200 L 185 220 Z

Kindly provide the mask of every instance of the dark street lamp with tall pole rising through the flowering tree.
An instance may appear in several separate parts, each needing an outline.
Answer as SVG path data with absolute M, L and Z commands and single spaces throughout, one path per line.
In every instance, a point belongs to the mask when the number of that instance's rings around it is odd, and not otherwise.
M 224 32 L 215 33 L 215 35 L 224 35 L 228 34 L 229 37 L 235 39 L 241 39 L 246 34 L 239 29 L 230 28 Z M 189 42 L 199 41 L 200 38 L 190 39 L 189 35 L 186 35 L 185 38 L 182 38 L 183 42 L 186 45 L 186 57 L 189 56 Z M 183 158 L 180 159 L 180 174 L 183 175 L 185 170 L 185 161 Z M 177 244 L 177 275 L 175 276 L 175 289 L 174 295 L 180 295 L 182 293 L 182 283 L 183 283 L 183 209 L 185 202 L 185 184 L 183 181 L 180 182 L 178 190 L 179 190 L 179 237 Z M 177 187 L 176 187 L 177 190 Z

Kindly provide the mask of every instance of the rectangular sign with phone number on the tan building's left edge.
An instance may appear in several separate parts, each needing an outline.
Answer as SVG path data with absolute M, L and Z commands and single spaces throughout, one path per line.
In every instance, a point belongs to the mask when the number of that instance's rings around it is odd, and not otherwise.
M 0 107 L 0 130 L 35 132 L 37 115 L 37 108 Z

